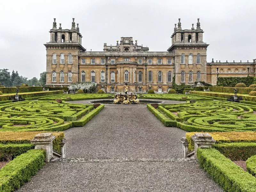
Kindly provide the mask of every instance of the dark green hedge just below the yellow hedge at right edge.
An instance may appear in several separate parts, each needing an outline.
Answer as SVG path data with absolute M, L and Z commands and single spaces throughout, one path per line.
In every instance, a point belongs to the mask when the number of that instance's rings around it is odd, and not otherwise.
M 256 143 L 252 142 L 219 143 L 213 147 L 232 161 L 246 160 L 256 155 Z

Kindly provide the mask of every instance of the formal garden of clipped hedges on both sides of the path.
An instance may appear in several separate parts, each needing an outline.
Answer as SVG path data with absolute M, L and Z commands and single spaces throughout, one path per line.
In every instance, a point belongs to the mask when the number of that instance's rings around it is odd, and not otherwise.
M 147 108 L 166 127 L 187 132 L 188 153 L 195 150 L 195 133 L 209 133 L 216 143 L 212 148 L 197 149 L 200 167 L 224 191 L 253 192 L 256 191 L 255 87 L 253 84 L 184 87 L 178 88 L 183 94 L 176 93 L 178 90 L 167 94 L 142 93 L 138 99 L 180 101 L 158 106 L 148 104 Z M 76 84 L 73 93 L 67 94 L 67 88 L 20 87 L 19 95 L 25 100 L 18 102 L 10 100 L 16 88 L 0 88 L 3 93 L 0 95 L 0 166 L 3 167 L 0 191 L 20 188 L 45 164 L 45 150 L 35 149 L 30 142 L 37 134 L 51 132 L 56 137 L 52 149 L 61 153 L 64 131 L 84 126 L 105 107 L 73 101 L 115 98 L 115 94 L 95 93 L 91 88 L 86 84 L 81 89 Z M 234 89 L 243 99 L 240 102 L 227 101 L 234 95 Z

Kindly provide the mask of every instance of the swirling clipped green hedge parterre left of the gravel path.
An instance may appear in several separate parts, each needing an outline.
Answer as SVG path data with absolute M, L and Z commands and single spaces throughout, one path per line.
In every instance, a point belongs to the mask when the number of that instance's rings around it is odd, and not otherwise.
M 0 106 L 0 131 L 63 131 L 83 126 L 103 107 L 56 101 L 6 103 Z

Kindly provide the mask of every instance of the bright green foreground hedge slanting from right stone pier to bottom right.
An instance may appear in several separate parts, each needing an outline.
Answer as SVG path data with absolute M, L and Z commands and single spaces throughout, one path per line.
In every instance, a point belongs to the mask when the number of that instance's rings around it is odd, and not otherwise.
M 200 166 L 226 192 L 256 192 L 256 178 L 245 172 L 218 150 L 197 150 Z

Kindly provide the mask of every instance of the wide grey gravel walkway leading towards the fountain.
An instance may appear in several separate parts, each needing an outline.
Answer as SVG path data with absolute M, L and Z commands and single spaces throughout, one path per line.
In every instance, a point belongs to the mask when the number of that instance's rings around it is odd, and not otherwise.
M 182 158 L 185 131 L 165 127 L 145 105 L 105 105 L 65 135 L 66 159 L 47 163 L 17 191 L 222 191 L 195 160 Z

